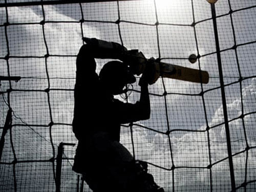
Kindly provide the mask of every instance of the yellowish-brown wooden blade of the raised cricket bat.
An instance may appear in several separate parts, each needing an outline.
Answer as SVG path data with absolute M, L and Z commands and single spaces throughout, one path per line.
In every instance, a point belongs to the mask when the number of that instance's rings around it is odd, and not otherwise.
M 202 82 L 204 84 L 207 84 L 209 82 L 209 74 L 207 71 L 186 68 L 164 62 L 160 62 L 160 66 L 162 77 L 190 82 Z

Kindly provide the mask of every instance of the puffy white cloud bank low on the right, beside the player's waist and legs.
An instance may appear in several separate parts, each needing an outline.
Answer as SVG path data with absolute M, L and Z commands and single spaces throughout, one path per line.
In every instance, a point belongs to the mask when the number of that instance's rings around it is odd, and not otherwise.
M 255 110 L 254 103 L 256 103 L 256 78 L 249 81 L 248 86 L 244 87 L 242 91 L 243 101 L 248 101 L 250 105 L 244 106 L 244 111 L 252 112 Z M 248 107 L 248 108 L 247 108 Z M 239 117 L 241 115 L 241 98 L 236 98 L 227 103 L 227 109 L 233 116 Z M 222 106 L 216 110 L 209 125 L 215 125 L 223 122 Z M 143 123 L 140 122 L 140 123 Z M 256 146 L 255 141 L 255 115 L 250 114 L 244 117 L 245 131 L 247 133 L 247 141 L 249 146 Z M 124 127 L 123 129 L 127 129 Z M 205 126 L 199 127 L 199 130 L 205 129 Z M 245 135 L 243 130 L 243 122 L 241 119 L 231 121 L 229 123 L 230 138 L 232 153 L 239 153 L 246 147 Z M 209 144 L 207 132 L 188 132 L 185 134 L 170 134 L 170 139 L 165 134 L 155 133 L 153 138 L 148 137 L 152 131 L 146 131 L 142 127 L 133 126 L 133 139 L 136 159 L 144 160 L 161 167 L 171 168 L 173 166 L 172 159 L 175 166 L 191 166 L 191 167 L 206 167 L 209 165 L 209 152 L 211 155 L 211 163 L 215 163 L 224 158 L 227 158 L 227 144 L 226 133 L 224 125 L 212 128 L 209 131 Z M 154 133 L 154 132 L 153 132 Z M 121 141 L 133 152 L 131 144 L 131 133 L 124 131 L 121 133 Z M 172 154 L 170 154 L 170 145 L 172 147 Z M 209 151 L 210 150 L 210 151 Z M 255 163 L 253 158 L 256 157 L 256 151 L 252 148 L 248 151 L 247 163 L 247 181 L 255 179 L 253 175 L 253 168 Z M 245 178 L 245 158 L 246 153 L 242 153 L 233 157 L 234 172 L 236 175 L 237 185 L 242 184 Z M 182 172 L 182 170 L 184 172 Z M 172 171 L 163 170 L 158 167 L 150 166 L 150 173 L 152 173 L 158 183 L 171 190 L 172 186 Z M 161 173 L 159 175 L 159 173 Z M 208 169 L 190 168 L 190 169 L 175 169 L 175 186 L 186 188 L 194 186 L 196 183 L 200 186 L 209 187 L 209 172 Z M 185 176 L 186 175 L 186 176 Z M 222 181 L 218 178 L 229 178 L 229 164 L 228 159 L 221 161 L 212 166 L 212 182 L 215 189 L 220 185 L 229 185 L 229 181 Z

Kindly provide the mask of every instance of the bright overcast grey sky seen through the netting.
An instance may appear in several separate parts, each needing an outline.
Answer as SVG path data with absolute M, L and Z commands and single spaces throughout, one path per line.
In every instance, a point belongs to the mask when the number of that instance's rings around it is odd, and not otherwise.
M 11 2 L 11 1 L 9 1 Z M 171 3 L 170 3 L 171 2 Z M 237 10 L 249 6 L 255 6 L 253 0 L 230 1 L 232 10 Z M 161 58 L 164 62 L 174 63 L 185 67 L 191 67 L 209 72 L 210 81 L 203 85 L 203 91 L 214 89 L 220 86 L 218 63 L 216 54 L 201 57 L 199 62 L 191 64 L 187 59 L 190 54 L 197 53 L 194 28 L 187 26 L 193 23 L 193 12 L 191 1 L 157 1 L 157 18 L 153 1 L 132 1 L 120 2 L 120 19 L 127 22 L 120 23 L 120 32 L 123 44 L 128 49 L 139 49 L 146 57 L 159 57 L 157 31 L 154 25 L 157 21 L 162 25 L 158 26 L 159 48 Z M 118 19 L 117 3 L 83 4 L 83 16 L 86 20 L 100 20 L 104 22 L 115 22 Z M 210 6 L 206 1 L 194 1 L 195 22 L 211 17 Z M 46 21 L 66 21 L 75 22 L 81 19 L 79 5 L 57 5 L 44 6 Z M 216 4 L 217 15 L 229 12 L 228 1 L 219 0 Z M 232 14 L 237 45 L 255 41 L 256 21 L 255 8 L 234 12 Z M 8 8 L 9 23 L 39 23 L 42 20 L 41 6 L 13 7 Z M 6 12 L 0 9 L 0 25 L 6 22 Z M 133 22 L 133 23 L 131 23 Z M 217 19 L 220 48 L 228 49 L 234 45 L 230 16 Z M 136 23 L 136 24 L 134 24 Z M 140 24 L 147 25 L 140 25 Z M 164 24 L 164 25 L 163 25 Z M 165 25 L 182 24 L 185 26 Z M 73 55 L 75 56 L 82 45 L 81 26 L 79 23 L 46 23 L 45 37 L 50 55 Z M 215 52 L 214 30 L 212 21 L 198 23 L 195 27 L 198 50 L 200 55 Z M 97 37 L 104 40 L 120 41 L 118 26 L 116 24 L 102 22 L 85 22 L 82 25 L 83 36 Z M 42 26 L 31 25 L 11 25 L 7 27 L 9 49 L 11 56 L 44 56 L 46 45 L 42 34 Z M 237 49 L 238 60 L 242 77 L 255 75 L 255 44 L 240 46 Z M 7 54 L 7 44 L 4 27 L 0 27 L 0 57 Z M 234 50 L 221 53 L 224 83 L 239 80 L 239 70 Z M 97 71 L 100 70 L 105 60 L 97 59 Z M 13 119 L 15 123 L 27 123 L 33 125 L 48 125 L 51 120 L 49 112 L 48 97 L 45 90 L 48 88 L 47 73 L 50 77 L 50 89 L 73 89 L 75 80 L 75 57 L 49 57 L 47 59 L 47 70 L 45 58 L 10 58 L 10 75 L 23 77 L 19 82 L 12 83 L 13 89 L 38 90 L 36 92 L 13 92 L 10 101 L 14 114 L 18 118 Z M 3 69 L 0 75 L 8 75 L 7 65 L 4 59 L 0 59 L 0 67 Z M 185 81 L 164 79 L 166 96 L 167 116 L 170 130 L 205 130 L 206 123 L 210 127 L 218 125 L 224 121 L 222 110 L 222 99 L 220 89 L 214 89 L 204 94 L 205 109 L 201 96 L 188 96 L 183 94 L 199 94 L 202 91 L 201 85 Z M 9 89 L 6 82 L 2 82 L 2 90 Z M 137 84 L 135 90 L 139 90 Z M 244 114 L 253 113 L 256 109 L 256 79 L 249 78 L 242 82 L 242 99 L 240 94 L 240 84 L 235 83 L 225 88 L 227 100 L 227 112 L 229 119 L 237 118 L 241 115 L 242 106 Z M 161 79 L 156 84 L 150 86 L 152 116 L 150 120 L 137 122 L 150 129 L 166 132 L 167 119 L 165 112 L 164 97 L 155 96 L 164 93 Z M 72 91 L 50 91 L 51 114 L 54 123 L 71 124 L 73 119 L 73 92 Z M 4 103 L 7 95 L 0 98 L 1 106 L 4 110 L 0 115 L 1 126 L 5 121 L 8 108 Z M 130 102 L 139 99 L 139 94 L 133 92 L 129 97 Z M 205 116 L 206 113 L 206 116 Z M 246 136 L 243 130 L 243 121 L 234 120 L 229 123 L 230 136 L 233 153 L 244 150 L 245 137 L 249 146 L 255 146 L 255 114 L 247 115 L 244 118 Z M 0 131 L 1 132 L 1 131 Z M 52 127 L 52 139 L 55 145 L 59 142 L 76 142 L 69 125 L 54 125 Z M 203 166 L 209 165 L 209 147 L 207 132 L 184 132 L 175 131 L 170 133 L 170 143 L 172 154 L 170 153 L 169 138 L 164 134 L 157 134 L 141 127 L 134 127 L 134 142 L 136 158 L 146 160 L 161 167 L 171 168 L 173 166 Z M 52 157 L 49 129 L 42 126 L 22 127 L 15 126 L 13 130 L 13 140 L 15 153 L 18 160 L 49 159 Z M 224 125 L 214 127 L 209 131 L 211 163 L 215 163 L 227 157 L 226 136 Z M 7 141 L 8 143 L 10 141 Z M 132 152 L 131 133 L 127 127 L 121 131 L 121 142 Z M 34 143 L 31 146 L 31 143 Z M 5 158 L 3 161 L 11 162 L 13 155 L 10 144 L 6 144 Z M 55 149 L 56 150 L 56 149 Z M 37 153 L 36 153 L 37 152 Z M 74 148 L 69 148 L 66 155 L 73 157 Z M 56 155 L 56 154 L 55 154 Z M 255 179 L 256 152 L 252 148 L 248 153 L 247 181 Z M 237 185 L 245 179 L 245 158 L 246 153 L 234 157 L 234 169 L 236 173 Z M 1 165 L 3 166 L 3 165 Z M 40 165 L 52 172 L 50 165 Z M 48 168 L 49 166 L 49 168 Z M 70 169 L 70 166 L 67 166 Z M 28 172 L 26 167 L 17 169 L 20 177 L 22 173 Z M 37 170 L 36 170 L 37 171 Z M 4 173 L 9 169 L 5 167 Z M 158 183 L 170 190 L 172 188 L 172 172 L 150 166 L 150 172 L 155 175 Z M 27 174 L 27 173 L 26 173 Z M 32 174 L 31 174 L 32 175 Z M 214 189 L 218 190 L 226 186 L 229 178 L 228 161 L 223 161 L 212 168 L 212 182 Z M 225 178 L 222 180 L 221 178 Z M 2 180 L 3 178 L 1 178 Z M 45 181 L 45 180 L 44 180 Z M 189 189 L 200 185 L 209 188 L 208 169 L 176 169 L 175 186 L 178 190 Z M 3 182 L 0 181 L 0 182 Z M 28 182 L 28 181 L 27 181 Z M 42 179 L 38 178 L 38 182 Z M 72 181 L 70 181 L 72 183 Z M 73 183 L 75 183 L 73 181 Z M 69 182 L 66 183 L 70 184 Z M 254 185 L 252 185 L 253 187 Z M 180 188 L 179 188 L 180 187 Z M 8 188 L 8 186 L 6 186 Z M 24 186 L 22 186 L 24 188 Z M 25 187 L 26 188 L 26 187 Z M 51 188 L 51 187 L 48 187 Z M 9 188 L 10 189 L 10 188 Z M 198 188 L 200 189 L 200 188 Z M 253 189 L 253 188 L 252 188 Z M 255 189 L 255 187 L 254 187 Z M 33 189 L 31 189 L 33 190 Z M 8 191 L 8 190 L 7 190 Z

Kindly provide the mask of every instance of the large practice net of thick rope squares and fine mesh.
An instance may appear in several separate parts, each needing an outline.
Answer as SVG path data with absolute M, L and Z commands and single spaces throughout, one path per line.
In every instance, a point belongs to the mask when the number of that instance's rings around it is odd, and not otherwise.
M 255 0 L 0 2 L 0 191 L 91 191 L 72 171 L 82 37 L 209 72 L 208 84 L 160 78 L 151 118 L 121 128 L 165 191 L 256 190 Z M 137 82 L 119 99 L 137 101 Z

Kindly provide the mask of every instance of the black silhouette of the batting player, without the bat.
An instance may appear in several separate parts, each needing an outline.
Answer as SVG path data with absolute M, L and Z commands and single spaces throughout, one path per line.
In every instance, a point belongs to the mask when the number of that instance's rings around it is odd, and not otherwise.
M 78 146 L 73 170 L 83 175 L 94 192 L 163 191 L 147 173 L 147 164 L 135 161 L 119 143 L 120 124 L 150 118 L 149 73 L 144 72 L 140 78 L 138 102 L 124 103 L 115 99 L 113 95 L 123 93 L 127 83 L 136 81 L 134 74 L 138 74 L 139 68 L 134 66 L 138 63 L 127 65 L 129 51 L 116 42 L 85 40 L 87 44 L 81 47 L 76 60 L 73 132 Z M 106 63 L 98 75 L 94 58 L 123 62 Z

